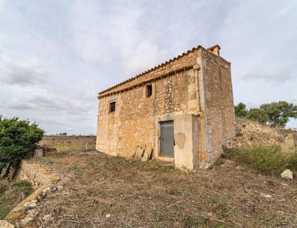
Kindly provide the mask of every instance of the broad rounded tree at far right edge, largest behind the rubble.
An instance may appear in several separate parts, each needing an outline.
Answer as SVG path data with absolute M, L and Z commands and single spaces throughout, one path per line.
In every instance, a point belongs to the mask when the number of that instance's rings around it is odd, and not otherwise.
M 268 115 L 268 123 L 271 126 L 284 127 L 290 117 L 297 118 L 297 105 L 289 104 L 286 101 L 263 104 L 260 109 Z

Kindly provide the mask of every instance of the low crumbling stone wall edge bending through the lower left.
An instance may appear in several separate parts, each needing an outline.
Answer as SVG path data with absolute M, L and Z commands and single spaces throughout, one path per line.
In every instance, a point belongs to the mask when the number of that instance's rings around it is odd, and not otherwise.
M 16 228 L 32 227 L 33 223 L 38 221 L 36 218 L 36 215 L 38 214 L 33 214 L 33 217 L 29 216 L 28 212 L 31 211 L 29 209 L 36 208 L 38 206 L 38 202 L 41 201 L 49 192 L 55 191 L 56 188 L 54 188 L 54 184 L 61 179 L 59 176 L 52 175 L 48 171 L 42 169 L 39 165 L 29 164 L 25 161 L 21 162 L 30 166 L 30 168 L 33 168 L 36 171 L 36 174 L 47 176 L 49 181 L 37 188 L 31 195 L 20 202 L 7 214 L 4 220 L 13 224 Z

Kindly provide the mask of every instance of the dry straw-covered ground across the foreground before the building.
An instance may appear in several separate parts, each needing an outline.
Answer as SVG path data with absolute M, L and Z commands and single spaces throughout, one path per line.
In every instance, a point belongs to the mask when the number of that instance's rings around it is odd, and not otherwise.
M 62 177 L 62 187 L 42 202 L 42 214 L 53 216 L 46 227 L 297 227 L 296 179 L 257 174 L 230 160 L 197 172 L 95 150 L 31 161 Z

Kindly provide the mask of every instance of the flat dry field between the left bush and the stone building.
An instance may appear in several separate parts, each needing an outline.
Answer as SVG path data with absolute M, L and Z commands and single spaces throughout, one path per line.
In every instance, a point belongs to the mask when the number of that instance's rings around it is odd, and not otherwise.
M 96 136 L 76 136 L 76 135 L 46 135 L 39 145 L 47 145 L 56 148 L 57 151 L 84 150 L 88 142 L 88 149 L 95 149 Z

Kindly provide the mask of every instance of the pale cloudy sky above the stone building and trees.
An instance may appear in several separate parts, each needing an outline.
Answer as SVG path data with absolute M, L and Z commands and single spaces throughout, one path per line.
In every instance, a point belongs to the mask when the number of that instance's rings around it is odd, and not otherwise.
M 100 91 L 216 44 L 235 105 L 297 105 L 297 1 L 0 0 L 0 114 L 96 135 Z

